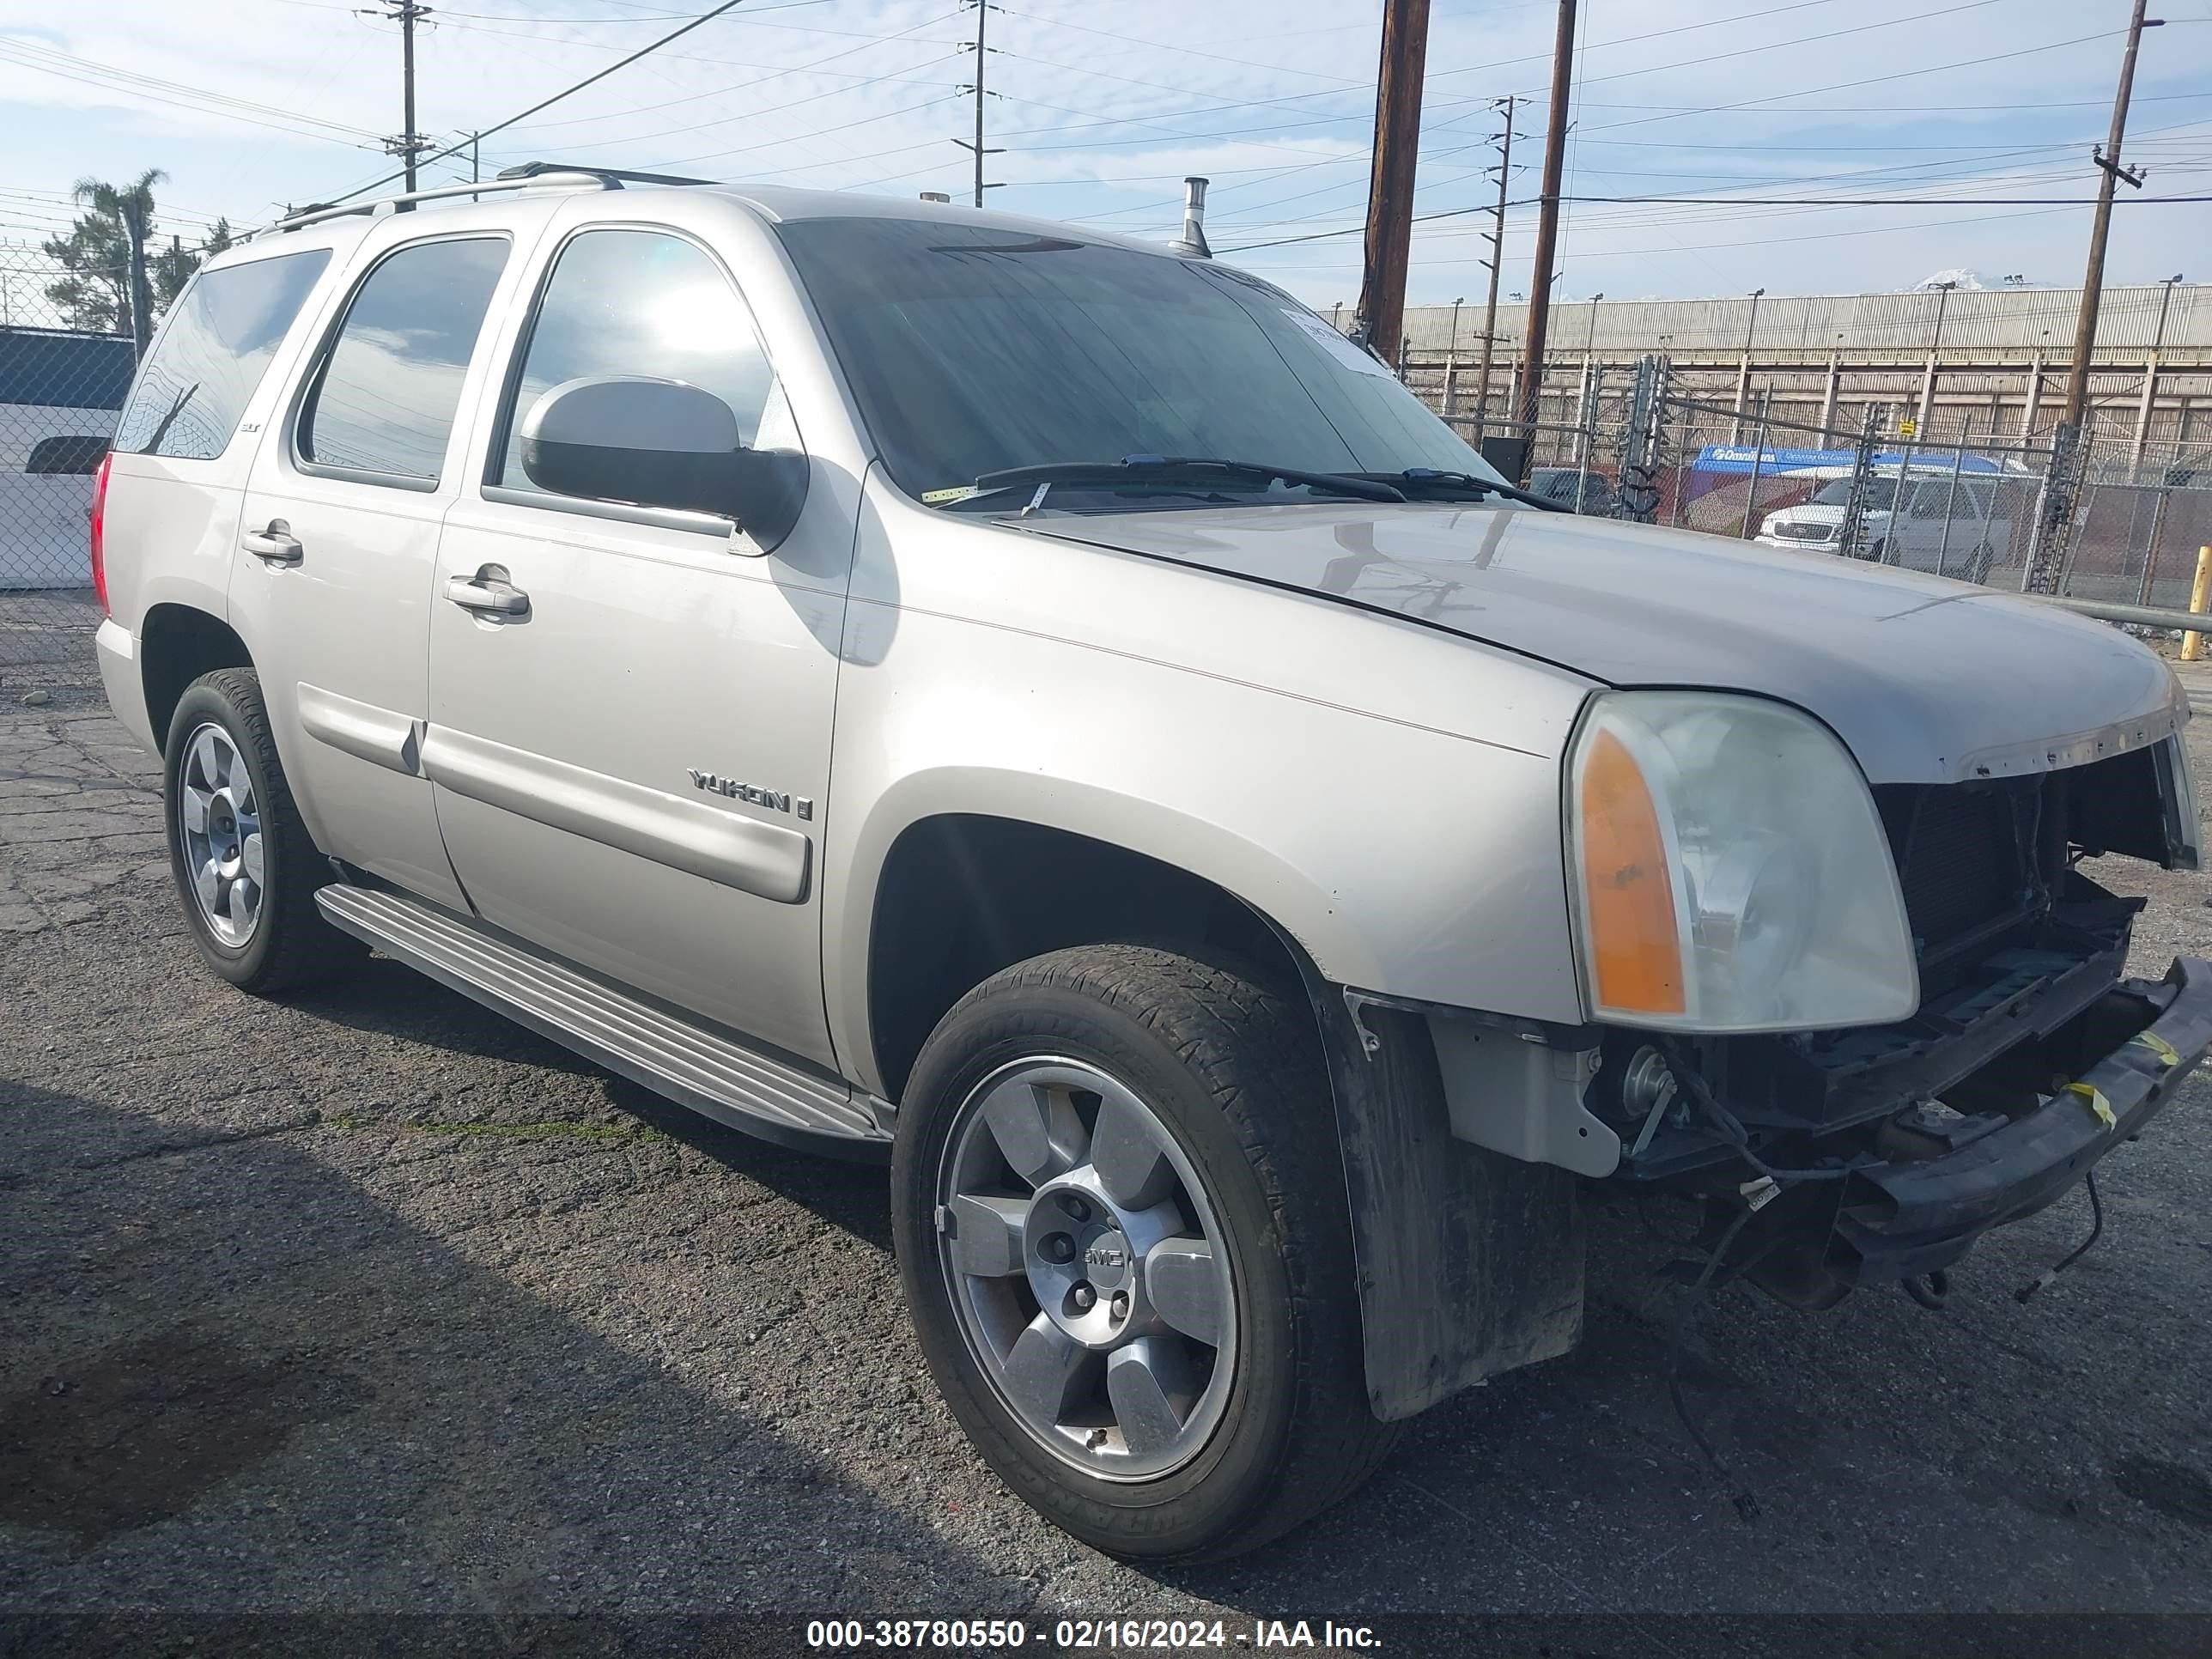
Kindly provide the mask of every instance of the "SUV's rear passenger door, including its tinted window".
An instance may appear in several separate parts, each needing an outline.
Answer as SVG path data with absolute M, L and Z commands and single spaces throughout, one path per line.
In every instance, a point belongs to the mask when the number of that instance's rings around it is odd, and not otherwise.
M 440 215 L 442 219 L 445 215 Z M 230 606 L 316 845 L 460 905 L 418 770 L 429 593 L 507 230 L 365 246 L 246 487 Z

